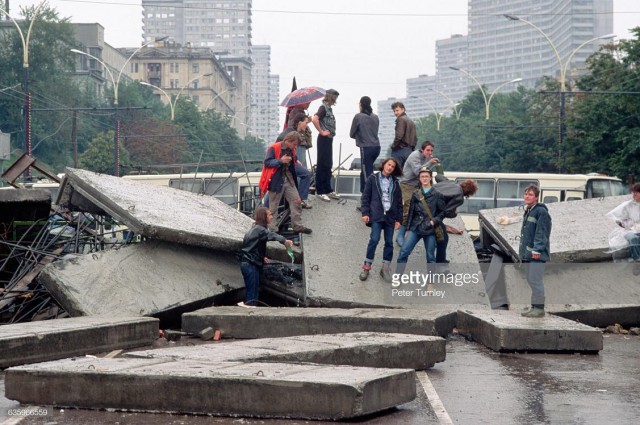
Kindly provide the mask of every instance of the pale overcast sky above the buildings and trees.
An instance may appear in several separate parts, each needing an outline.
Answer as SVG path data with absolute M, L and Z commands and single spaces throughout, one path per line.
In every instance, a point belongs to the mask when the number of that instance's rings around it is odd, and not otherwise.
M 9 0 L 19 7 L 39 3 Z M 4 0 L 3 0 L 4 3 Z M 114 47 L 142 41 L 141 0 L 49 0 L 72 22 L 98 22 Z M 321 13 L 320 13 L 321 12 Z M 630 38 L 640 25 L 640 0 L 614 0 L 614 33 Z M 317 85 L 340 92 L 334 107 L 336 142 L 354 152 L 349 127 L 358 100 L 376 102 L 406 94 L 406 79 L 435 73 L 435 42 L 467 33 L 466 0 L 253 0 L 253 44 L 271 46 L 271 73 L 280 75 L 281 98 L 298 87 Z M 319 101 L 311 105 L 315 112 Z M 334 147 L 337 160 L 338 146 Z

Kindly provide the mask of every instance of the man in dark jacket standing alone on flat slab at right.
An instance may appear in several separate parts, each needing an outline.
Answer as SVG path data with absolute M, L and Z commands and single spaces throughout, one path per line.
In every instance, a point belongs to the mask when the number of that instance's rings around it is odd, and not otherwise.
M 550 258 L 551 216 L 545 204 L 538 202 L 540 188 L 524 189 L 524 217 L 520 232 L 520 261 L 525 264 L 527 282 L 531 287 L 531 308 L 523 317 L 544 316 L 544 267 Z

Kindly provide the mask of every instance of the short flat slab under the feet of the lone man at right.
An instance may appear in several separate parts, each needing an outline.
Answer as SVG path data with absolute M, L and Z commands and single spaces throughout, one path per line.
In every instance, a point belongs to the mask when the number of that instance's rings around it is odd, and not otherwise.
M 602 332 L 571 320 L 545 315 L 525 318 L 520 311 L 458 311 L 458 330 L 494 351 L 602 350 Z

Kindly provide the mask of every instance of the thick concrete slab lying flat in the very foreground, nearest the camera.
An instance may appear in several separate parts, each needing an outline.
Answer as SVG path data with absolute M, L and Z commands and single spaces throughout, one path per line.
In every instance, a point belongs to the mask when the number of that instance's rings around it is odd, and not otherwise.
M 171 359 L 76 359 L 6 371 L 24 404 L 341 420 L 409 402 L 415 371 Z

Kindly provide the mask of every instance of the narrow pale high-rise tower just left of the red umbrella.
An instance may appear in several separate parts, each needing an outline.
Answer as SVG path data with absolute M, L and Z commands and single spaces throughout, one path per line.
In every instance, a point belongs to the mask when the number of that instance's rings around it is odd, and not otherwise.
M 277 76 L 271 75 L 271 47 L 253 46 L 251 60 L 251 102 L 254 109 L 250 130 L 267 143 L 272 143 L 282 128 L 278 122 L 280 82 Z

